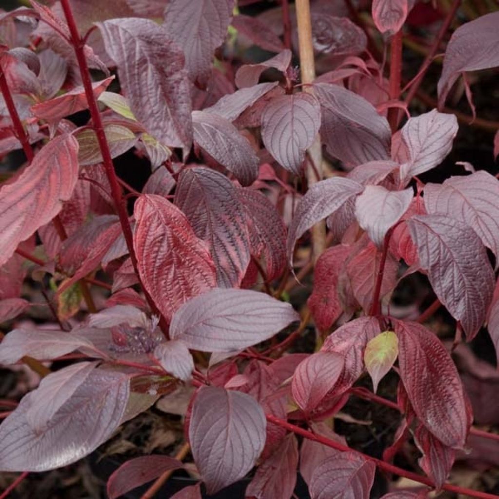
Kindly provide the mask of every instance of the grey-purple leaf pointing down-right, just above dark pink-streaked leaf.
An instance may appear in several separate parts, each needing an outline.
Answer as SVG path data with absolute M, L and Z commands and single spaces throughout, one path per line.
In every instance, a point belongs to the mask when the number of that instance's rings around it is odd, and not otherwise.
M 192 112 L 194 142 L 234 173 L 243 185 L 258 175 L 259 160 L 251 144 L 228 120 L 205 111 Z

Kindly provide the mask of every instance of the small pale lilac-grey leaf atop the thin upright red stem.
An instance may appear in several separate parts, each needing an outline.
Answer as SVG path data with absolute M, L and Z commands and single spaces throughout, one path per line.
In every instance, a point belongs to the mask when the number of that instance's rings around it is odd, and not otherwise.
M 388 191 L 367 186 L 355 202 L 355 216 L 369 239 L 380 249 L 386 233 L 401 219 L 411 204 L 413 189 Z

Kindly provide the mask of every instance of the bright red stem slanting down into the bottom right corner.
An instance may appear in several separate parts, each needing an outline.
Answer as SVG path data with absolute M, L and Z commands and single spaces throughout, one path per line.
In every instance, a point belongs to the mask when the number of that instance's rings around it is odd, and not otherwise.
M 315 433 L 312 433 L 308 430 L 304 430 L 303 428 L 292 425 L 291 423 L 288 423 L 287 421 L 276 418 L 275 416 L 273 416 L 271 414 L 266 414 L 265 417 L 269 423 L 273 423 L 274 425 L 280 426 L 281 428 L 285 428 L 286 430 L 293 432 L 296 435 L 300 435 L 300 436 L 302 436 L 308 440 L 311 440 L 313 442 L 318 442 L 319 444 L 325 445 L 327 447 L 330 447 L 332 449 L 336 449 L 337 451 L 341 451 L 341 452 L 354 452 L 355 454 L 362 456 L 364 459 L 371 461 L 380 470 L 382 470 L 384 472 L 393 473 L 394 475 L 398 475 L 399 477 L 408 478 L 409 480 L 413 480 L 414 482 L 418 482 L 420 484 L 424 484 L 424 485 L 427 485 L 429 487 L 433 487 L 433 488 L 435 487 L 433 482 L 427 477 L 422 477 L 421 475 L 418 475 L 417 473 L 403 470 L 402 468 L 399 468 L 397 466 L 391 465 L 389 463 L 385 463 L 384 461 L 373 458 L 371 456 L 363 454 L 363 453 L 356 451 L 354 449 L 350 449 L 349 447 L 346 447 L 342 444 L 339 444 L 338 442 L 335 442 L 334 440 L 330 440 L 326 437 L 323 437 L 322 435 L 316 435 Z M 499 496 L 496 496 L 494 494 L 487 494 L 485 492 L 473 491 L 471 489 L 466 489 L 464 487 L 458 487 L 458 486 L 451 485 L 451 484 L 444 484 L 442 486 L 442 489 L 444 489 L 446 491 L 450 491 L 450 492 L 455 492 L 457 494 L 468 495 L 472 498 L 499 499 Z

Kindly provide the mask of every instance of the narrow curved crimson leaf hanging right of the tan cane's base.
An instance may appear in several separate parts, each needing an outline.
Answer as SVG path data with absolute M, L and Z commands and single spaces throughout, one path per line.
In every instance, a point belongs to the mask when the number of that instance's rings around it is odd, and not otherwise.
M 307 305 L 319 331 L 329 329 L 342 313 L 338 277 L 350 251 L 347 245 L 328 248 L 315 264 L 313 290 Z

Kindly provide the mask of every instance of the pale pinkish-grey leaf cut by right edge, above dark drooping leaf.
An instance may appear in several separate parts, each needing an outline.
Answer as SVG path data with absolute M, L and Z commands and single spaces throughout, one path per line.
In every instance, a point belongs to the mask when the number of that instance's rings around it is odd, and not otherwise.
M 426 210 L 431 215 L 460 214 L 496 255 L 499 266 L 499 180 L 486 171 L 451 177 L 442 185 L 427 184 Z

